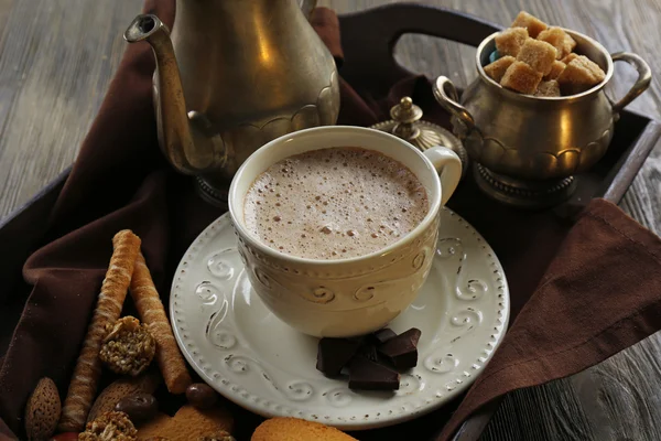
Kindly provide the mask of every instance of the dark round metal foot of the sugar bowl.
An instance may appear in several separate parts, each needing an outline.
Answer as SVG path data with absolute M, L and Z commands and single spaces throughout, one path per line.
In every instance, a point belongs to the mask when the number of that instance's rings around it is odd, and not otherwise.
M 477 186 L 488 196 L 520 208 L 549 208 L 566 201 L 576 190 L 576 180 L 527 181 L 497 174 L 475 163 L 473 174 Z

